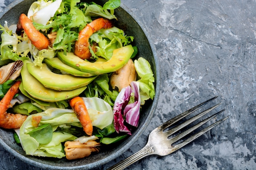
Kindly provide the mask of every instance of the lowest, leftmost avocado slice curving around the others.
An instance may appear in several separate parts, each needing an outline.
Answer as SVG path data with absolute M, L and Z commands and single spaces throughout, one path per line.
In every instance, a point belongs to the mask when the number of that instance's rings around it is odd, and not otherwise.
M 27 64 L 31 63 L 29 60 L 23 61 L 24 65 L 21 69 L 21 77 L 22 77 L 22 83 L 23 88 L 29 95 L 34 97 L 35 99 L 42 100 L 45 102 L 58 102 L 65 99 L 70 99 L 73 97 L 78 96 L 80 93 L 82 93 L 87 86 L 77 88 L 72 91 L 56 91 L 51 88 L 46 88 L 38 82 L 38 80 L 33 77 L 29 71 L 27 70 Z

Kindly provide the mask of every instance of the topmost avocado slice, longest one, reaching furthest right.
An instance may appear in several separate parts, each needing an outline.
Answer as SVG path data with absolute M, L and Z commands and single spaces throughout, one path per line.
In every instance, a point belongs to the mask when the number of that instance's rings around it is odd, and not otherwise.
M 134 50 L 131 45 L 115 49 L 110 60 L 106 62 L 96 61 L 92 63 L 77 57 L 74 53 L 67 53 L 67 55 L 64 55 L 63 52 L 58 52 L 58 58 L 64 64 L 72 66 L 80 71 L 103 74 L 117 71 L 119 68 L 124 66 L 132 56 L 133 51 Z

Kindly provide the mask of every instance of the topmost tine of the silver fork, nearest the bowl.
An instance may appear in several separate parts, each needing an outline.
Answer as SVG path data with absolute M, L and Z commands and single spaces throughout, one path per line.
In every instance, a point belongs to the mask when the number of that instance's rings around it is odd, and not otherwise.
M 175 124 L 177 121 L 179 121 L 180 119 L 186 117 L 187 115 L 195 112 L 196 110 L 198 110 L 199 108 L 205 106 L 207 103 L 211 102 L 212 100 L 216 99 L 218 96 L 215 96 L 205 102 L 202 102 L 201 104 L 198 104 L 197 106 L 185 111 L 184 113 L 177 115 L 176 117 L 174 117 L 173 119 L 170 119 L 168 121 L 166 121 L 164 124 L 162 124 L 161 126 L 159 126 L 159 128 L 161 128 L 162 130 L 168 128 L 169 126 Z

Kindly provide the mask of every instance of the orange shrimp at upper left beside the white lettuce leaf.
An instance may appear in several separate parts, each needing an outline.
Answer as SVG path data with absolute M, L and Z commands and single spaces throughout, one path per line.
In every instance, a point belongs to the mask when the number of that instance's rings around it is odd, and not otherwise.
M 17 30 L 20 29 L 24 29 L 29 40 L 38 50 L 48 49 L 48 46 L 50 45 L 48 38 L 45 37 L 43 33 L 40 33 L 40 31 L 36 30 L 33 23 L 24 13 L 20 15 L 20 19 L 17 24 Z

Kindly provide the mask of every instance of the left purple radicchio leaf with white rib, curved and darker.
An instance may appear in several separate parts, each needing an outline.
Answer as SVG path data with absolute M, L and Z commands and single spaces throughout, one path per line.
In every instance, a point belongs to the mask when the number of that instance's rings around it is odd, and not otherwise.
M 122 112 L 125 106 L 130 101 L 131 93 L 132 93 L 132 88 L 130 86 L 127 86 L 126 88 L 123 88 L 120 91 L 120 93 L 117 95 L 117 98 L 115 100 L 113 113 L 114 113 L 114 128 L 117 131 L 117 133 L 126 132 L 127 134 L 131 135 L 130 130 L 124 125 L 124 118 L 122 115 Z

